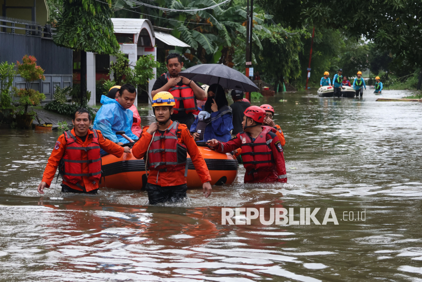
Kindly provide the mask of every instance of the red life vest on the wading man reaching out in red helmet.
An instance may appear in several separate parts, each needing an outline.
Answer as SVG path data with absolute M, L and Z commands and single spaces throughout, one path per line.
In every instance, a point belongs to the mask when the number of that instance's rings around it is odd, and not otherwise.
M 240 134 L 242 138 L 242 161 L 247 170 L 253 172 L 268 168 L 275 165 L 273 152 L 270 148 L 270 143 L 276 136 L 276 129 L 269 126 L 262 126 L 263 130 L 259 133 L 258 137 L 252 142 L 250 135 L 246 132 Z M 270 134 L 272 132 L 273 134 Z M 266 136 L 269 135 L 269 139 Z

